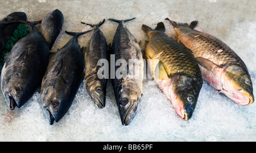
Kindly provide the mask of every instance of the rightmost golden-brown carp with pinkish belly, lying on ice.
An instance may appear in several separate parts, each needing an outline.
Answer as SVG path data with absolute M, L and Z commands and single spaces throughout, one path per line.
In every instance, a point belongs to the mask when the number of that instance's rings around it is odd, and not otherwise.
M 169 20 L 177 33 L 177 42 L 191 49 L 201 69 L 203 79 L 218 93 L 238 105 L 254 102 L 253 83 L 245 62 L 225 42 L 190 25 Z

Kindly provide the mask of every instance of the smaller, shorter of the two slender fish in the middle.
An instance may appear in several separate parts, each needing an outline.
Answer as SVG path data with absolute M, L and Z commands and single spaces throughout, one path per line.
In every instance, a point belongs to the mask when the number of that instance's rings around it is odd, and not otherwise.
M 108 61 L 109 59 L 109 46 L 106 42 L 104 34 L 100 30 L 100 26 L 104 24 L 105 19 L 98 24 L 88 24 L 94 28 L 94 32 L 92 37 L 89 40 L 88 47 L 85 51 L 85 76 L 84 76 L 84 84 L 86 90 L 94 104 L 97 105 L 98 108 L 104 108 L 106 102 L 106 85 L 108 78 L 98 78 L 98 70 L 101 69 L 102 66 L 98 65 L 99 60 L 105 59 Z M 107 73 L 108 72 L 104 72 Z

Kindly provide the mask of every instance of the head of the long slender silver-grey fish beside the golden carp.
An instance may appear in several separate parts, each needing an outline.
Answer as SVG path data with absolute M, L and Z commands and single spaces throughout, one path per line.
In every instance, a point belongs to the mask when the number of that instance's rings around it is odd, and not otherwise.
M 137 114 L 142 91 L 133 82 L 123 82 L 117 88 L 117 105 L 122 125 L 129 125 Z

